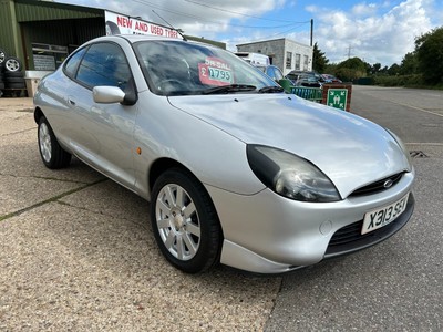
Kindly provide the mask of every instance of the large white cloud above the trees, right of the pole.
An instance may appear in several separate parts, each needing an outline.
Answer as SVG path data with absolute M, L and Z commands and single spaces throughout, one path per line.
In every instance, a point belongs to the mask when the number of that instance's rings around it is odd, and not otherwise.
M 308 7 L 319 21 L 315 40 L 331 62 L 359 56 L 391 65 L 414 50 L 415 37 L 431 28 L 426 0 L 405 0 L 387 11 L 384 6 L 357 4 L 349 12 Z

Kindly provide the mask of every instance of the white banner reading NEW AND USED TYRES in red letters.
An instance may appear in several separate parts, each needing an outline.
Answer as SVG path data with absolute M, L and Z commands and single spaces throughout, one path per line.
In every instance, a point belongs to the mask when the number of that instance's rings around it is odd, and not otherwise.
M 131 17 L 105 11 L 106 35 L 109 34 L 148 34 L 167 38 L 182 37 L 174 29 L 153 24 Z

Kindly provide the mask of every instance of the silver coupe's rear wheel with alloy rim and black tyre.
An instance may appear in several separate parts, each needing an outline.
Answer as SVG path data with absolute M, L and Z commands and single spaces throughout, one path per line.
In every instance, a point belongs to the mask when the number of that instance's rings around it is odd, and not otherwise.
M 38 141 L 40 156 L 48 168 L 58 169 L 69 166 L 71 154 L 60 146 L 54 132 L 44 116 L 39 121 Z

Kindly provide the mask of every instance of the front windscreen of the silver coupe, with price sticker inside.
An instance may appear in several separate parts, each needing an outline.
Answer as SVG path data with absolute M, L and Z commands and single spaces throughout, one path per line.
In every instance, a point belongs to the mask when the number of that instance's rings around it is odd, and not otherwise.
M 134 49 L 151 91 L 159 95 L 257 92 L 278 86 L 260 70 L 215 46 L 162 40 L 141 41 Z

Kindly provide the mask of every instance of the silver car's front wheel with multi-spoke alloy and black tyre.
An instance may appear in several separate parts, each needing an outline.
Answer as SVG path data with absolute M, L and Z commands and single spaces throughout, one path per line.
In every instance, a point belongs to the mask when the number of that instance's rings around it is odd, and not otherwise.
M 151 222 L 165 258 L 187 273 L 217 264 L 222 227 L 204 186 L 189 173 L 172 168 L 155 181 Z

